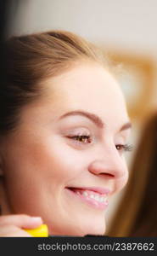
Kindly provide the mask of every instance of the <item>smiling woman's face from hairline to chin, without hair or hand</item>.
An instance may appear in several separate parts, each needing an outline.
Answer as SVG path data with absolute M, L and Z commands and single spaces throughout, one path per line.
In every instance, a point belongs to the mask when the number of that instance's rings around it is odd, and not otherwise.
M 103 235 L 109 197 L 128 177 L 121 90 L 89 63 L 42 84 L 3 146 L 11 211 L 41 216 L 51 235 Z

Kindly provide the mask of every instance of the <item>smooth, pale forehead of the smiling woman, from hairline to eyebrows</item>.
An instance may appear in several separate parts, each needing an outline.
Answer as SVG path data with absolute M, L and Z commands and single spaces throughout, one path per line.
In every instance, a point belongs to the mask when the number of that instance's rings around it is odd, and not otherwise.
M 82 64 L 48 79 L 47 100 L 70 110 L 126 115 L 126 104 L 114 77 L 97 64 Z

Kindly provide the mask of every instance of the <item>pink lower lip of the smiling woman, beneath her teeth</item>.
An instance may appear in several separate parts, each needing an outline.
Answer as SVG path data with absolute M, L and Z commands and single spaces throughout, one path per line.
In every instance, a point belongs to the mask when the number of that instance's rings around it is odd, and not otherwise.
M 76 194 L 76 192 L 74 192 L 71 189 L 66 188 L 66 190 L 68 190 L 70 192 L 70 195 L 74 195 L 79 200 L 85 202 L 88 206 L 91 206 L 98 210 L 105 210 L 109 205 L 108 200 L 105 200 L 104 202 L 99 202 L 99 201 L 94 200 L 93 198 L 86 198 L 84 195 Z

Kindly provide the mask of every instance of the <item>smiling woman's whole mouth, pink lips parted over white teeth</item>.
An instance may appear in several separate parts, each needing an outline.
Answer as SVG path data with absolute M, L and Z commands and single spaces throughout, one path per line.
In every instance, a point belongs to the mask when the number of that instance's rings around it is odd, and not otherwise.
M 104 210 L 109 205 L 107 195 L 109 189 L 101 188 L 69 188 L 70 191 L 78 196 L 82 201 L 94 208 Z

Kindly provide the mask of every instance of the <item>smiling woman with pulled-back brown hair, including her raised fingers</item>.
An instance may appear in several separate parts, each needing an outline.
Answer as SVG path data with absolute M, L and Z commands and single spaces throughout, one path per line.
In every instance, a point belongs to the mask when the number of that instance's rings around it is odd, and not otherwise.
M 61 31 L 5 47 L 0 236 L 30 236 L 23 229 L 42 222 L 52 235 L 103 235 L 109 197 L 127 182 L 131 128 L 104 56 Z

